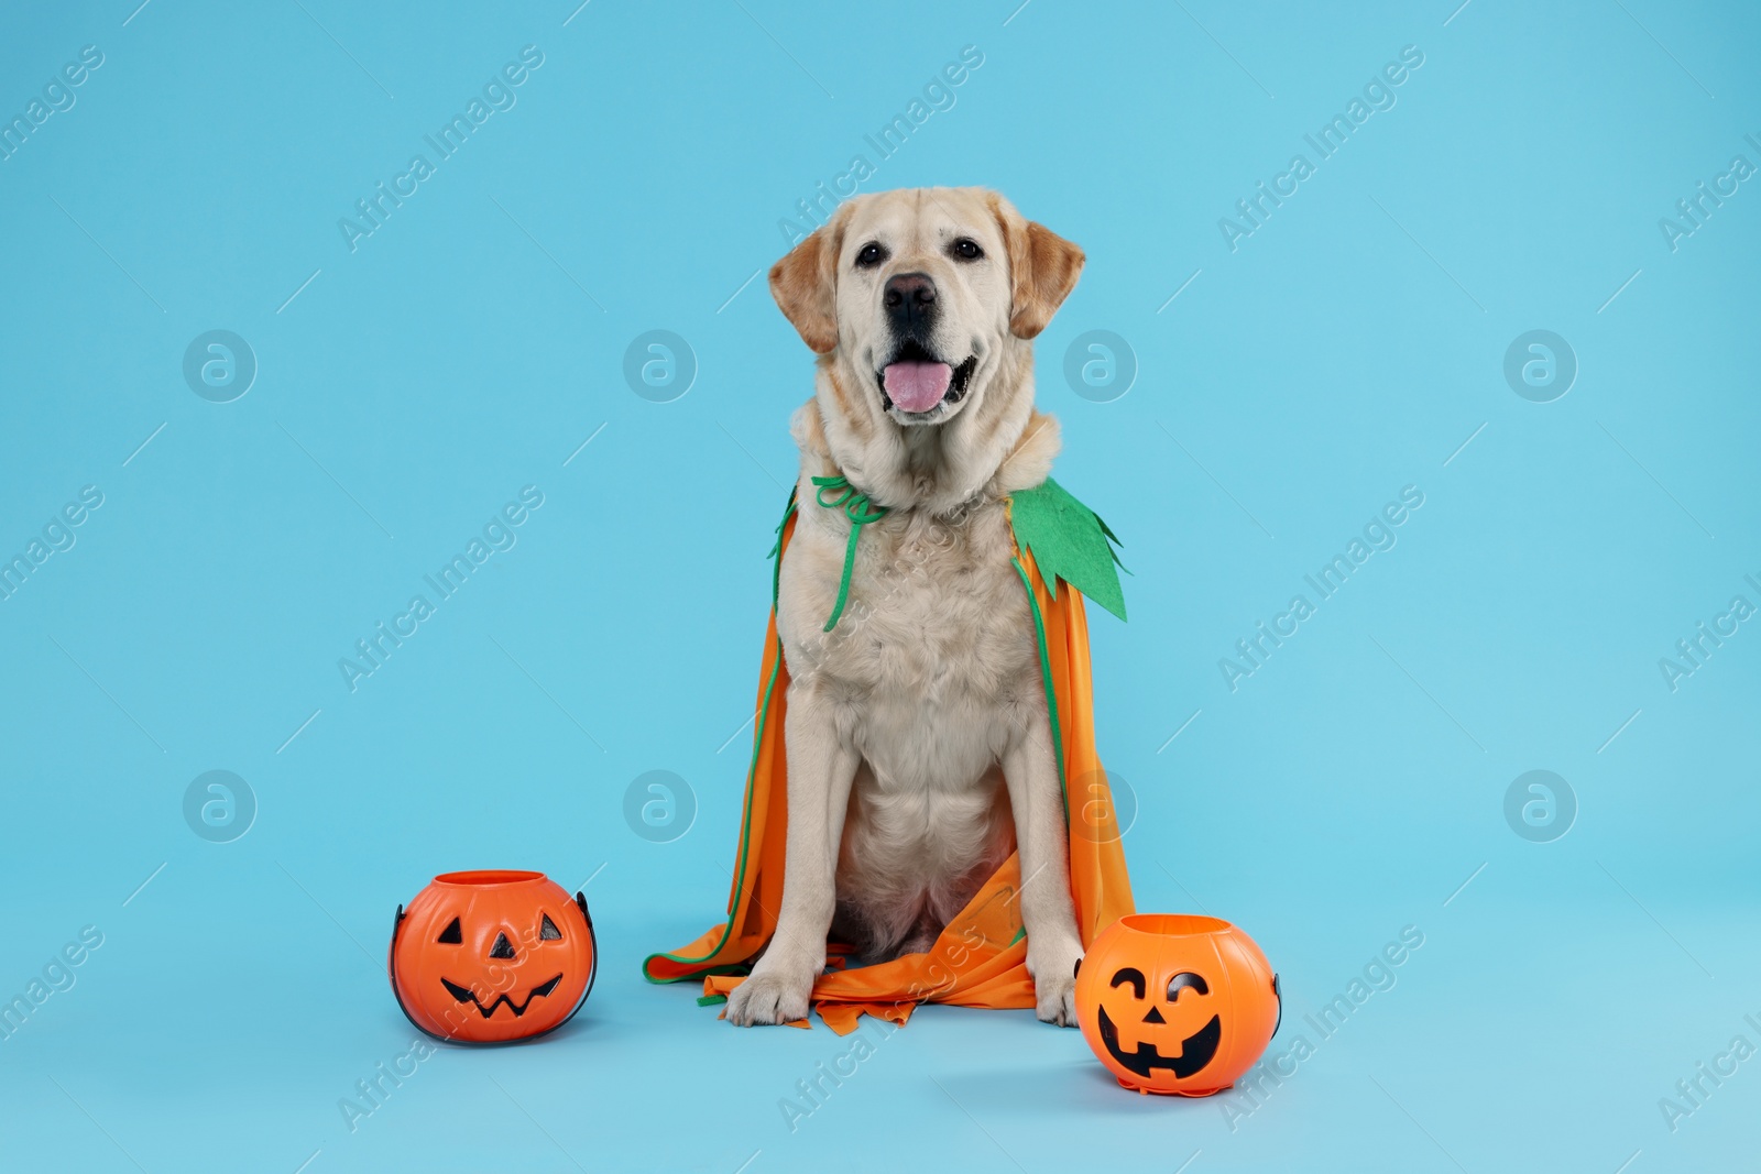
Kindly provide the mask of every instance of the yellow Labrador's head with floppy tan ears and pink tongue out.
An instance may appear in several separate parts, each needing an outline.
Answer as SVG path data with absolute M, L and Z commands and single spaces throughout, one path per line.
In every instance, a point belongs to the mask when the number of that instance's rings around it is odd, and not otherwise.
M 771 294 L 801 340 L 856 384 L 865 417 L 953 421 L 1051 320 L 1083 252 L 983 188 L 847 201 L 778 260 Z

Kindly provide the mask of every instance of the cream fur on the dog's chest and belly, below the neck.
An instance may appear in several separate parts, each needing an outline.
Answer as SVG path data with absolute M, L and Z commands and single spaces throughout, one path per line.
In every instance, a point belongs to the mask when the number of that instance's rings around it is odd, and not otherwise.
M 986 500 L 953 519 L 905 510 L 863 526 L 849 602 L 822 632 L 849 523 L 801 502 L 778 630 L 791 692 L 824 690 L 861 755 L 838 899 L 886 950 L 946 924 L 1007 855 L 998 759 L 1044 715 L 1034 618 L 1004 505 Z

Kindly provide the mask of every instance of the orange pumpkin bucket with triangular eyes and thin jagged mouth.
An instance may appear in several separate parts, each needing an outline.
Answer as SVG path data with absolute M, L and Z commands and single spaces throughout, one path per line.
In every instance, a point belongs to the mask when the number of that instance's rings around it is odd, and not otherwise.
M 599 968 L 586 898 L 544 873 L 442 873 L 398 906 L 391 993 L 442 1040 L 498 1044 L 560 1028 Z

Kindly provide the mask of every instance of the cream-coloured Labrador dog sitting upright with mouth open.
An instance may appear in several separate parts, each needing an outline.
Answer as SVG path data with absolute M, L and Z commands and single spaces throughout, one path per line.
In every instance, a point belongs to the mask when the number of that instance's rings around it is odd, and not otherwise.
M 1035 1014 L 1076 1024 L 1064 790 L 1004 498 L 1058 452 L 1032 340 L 1081 268 L 995 192 L 907 188 L 844 202 L 770 271 L 819 357 L 791 426 L 799 507 L 777 581 L 784 894 L 729 996 L 734 1024 L 803 1019 L 828 933 L 866 959 L 930 949 L 1011 850 Z M 814 477 L 884 509 L 829 632 L 856 523 L 815 505 Z

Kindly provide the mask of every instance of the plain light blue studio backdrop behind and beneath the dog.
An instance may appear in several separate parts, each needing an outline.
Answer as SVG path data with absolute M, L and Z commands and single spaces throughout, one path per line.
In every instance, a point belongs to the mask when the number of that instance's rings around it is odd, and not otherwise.
M 1761 1044 L 1761 623 L 1675 692 L 1657 667 L 1761 604 L 1761 188 L 1675 252 L 1657 225 L 1761 164 L 1750 5 L 136 2 L 0 32 L 7 118 L 104 53 L 0 162 L 0 551 L 104 493 L 0 602 L 0 994 L 104 935 L 0 1042 L 0 1167 L 1754 1169 L 1761 1060 L 1675 1132 L 1657 1105 Z M 350 252 L 336 220 L 527 44 L 518 106 Z M 1259 940 L 1278 1049 L 1425 933 L 1233 1130 L 1027 1012 L 928 1009 L 791 1132 L 847 1042 L 637 975 L 733 864 L 810 380 L 750 278 L 969 44 L 865 190 L 991 185 L 1088 253 L 1039 401 L 1134 572 L 1092 625 L 1139 908 Z M 1229 252 L 1217 220 L 1409 44 L 1396 106 Z M 210 329 L 259 361 L 232 403 L 181 377 Z M 623 380 L 648 329 L 696 354 L 673 403 Z M 1111 403 L 1062 377 L 1090 329 L 1139 364 Z M 1502 377 L 1530 329 L 1580 363 L 1553 403 Z M 528 484 L 518 546 L 350 693 L 336 660 Z M 1219 658 L 1404 486 L 1398 546 L 1231 692 Z M 210 769 L 257 796 L 232 843 L 183 822 Z M 696 792 L 673 843 L 622 817 L 650 769 Z M 1580 804 L 1553 843 L 1504 820 L 1530 769 Z M 412 1037 L 393 908 L 483 866 L 593 878 L 599 987 L 350 1132 Z

